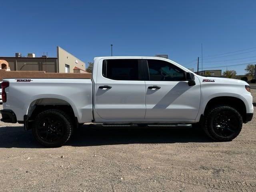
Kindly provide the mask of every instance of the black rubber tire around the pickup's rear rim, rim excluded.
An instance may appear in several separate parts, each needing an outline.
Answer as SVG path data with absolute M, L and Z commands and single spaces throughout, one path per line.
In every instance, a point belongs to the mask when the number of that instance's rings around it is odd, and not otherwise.
M 39 128 L 41 128 L 41 130 L 42 130 L 42 126 L 40 126 L 40 123 L 42 123 L 43 119 L 48 118 L 48 117 L 56 119 L 56 121 L 61 122 L 61 124 L 62 124 L 61 128 L 62 128 L 63 136 L 60 136 L 60 138 L 58 140 L 53 141 L 53 142 L 47 142 L 47 141 L 43 140 L 40 137 L 40 134 L 38 133 Z M 34 126 L 32 128 L 32 133 L 33 133 L 34 137 L 36 138 L 36 140 L 40 144 L 42 144 L 46 147 L 60 147 L 65 142 L 68 141 L 68 139 L 70 138 L 70 136 L 73 132 L 73 123 L 72 122 L 73 121 L 71 120 L 70 116 L 68 116 L 62 110 L 58 110 L 58 109 L 45 110 L 36 116 Z

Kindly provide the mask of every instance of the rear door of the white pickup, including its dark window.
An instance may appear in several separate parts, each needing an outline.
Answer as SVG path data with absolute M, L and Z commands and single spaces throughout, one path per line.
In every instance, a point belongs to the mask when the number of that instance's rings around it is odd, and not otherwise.
M 142 60 L 105 59 L 98 64 L 95 110 L 106 120 L 144 119 L 146 88 Z

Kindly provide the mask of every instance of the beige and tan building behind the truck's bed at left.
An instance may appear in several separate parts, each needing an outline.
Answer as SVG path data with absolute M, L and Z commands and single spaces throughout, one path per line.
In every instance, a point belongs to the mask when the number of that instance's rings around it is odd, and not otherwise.
M 15 57 L 0 57 L 8 62 L 11 71 L 45 71 L 46 73 L 87 73 L 85 63 L 66 50 L 57 47 L 57 57 L 36 57 L 35 54 L 22 56 L 16 53 Z M 5 68 L 4 65 L 1 68 Z M 8 69 L 7 69 L 8 70 Z

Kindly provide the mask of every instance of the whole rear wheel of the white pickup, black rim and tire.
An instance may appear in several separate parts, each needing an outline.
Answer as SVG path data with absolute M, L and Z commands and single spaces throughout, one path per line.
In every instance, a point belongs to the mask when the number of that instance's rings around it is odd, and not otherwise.
M 73 124 L 62 110 L 49 109 L 36 116 L 32 132 L 36 140 L 46 147 L 62 146 L 72 134 Z

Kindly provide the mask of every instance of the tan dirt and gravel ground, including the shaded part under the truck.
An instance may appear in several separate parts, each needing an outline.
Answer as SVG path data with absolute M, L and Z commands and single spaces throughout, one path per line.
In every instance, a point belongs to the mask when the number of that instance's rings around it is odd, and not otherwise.
M 255 132 L 255 116 L 232 142 L 192 128 L 84 125 L 65 146 L 43 148 L 1 122 L 0 191 L 255 192 Z

